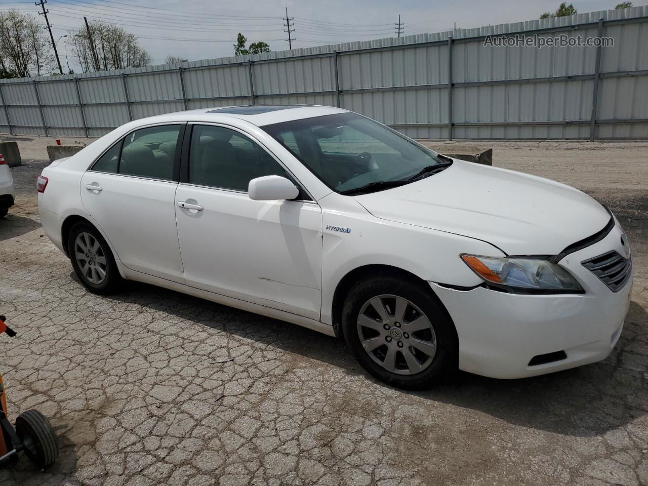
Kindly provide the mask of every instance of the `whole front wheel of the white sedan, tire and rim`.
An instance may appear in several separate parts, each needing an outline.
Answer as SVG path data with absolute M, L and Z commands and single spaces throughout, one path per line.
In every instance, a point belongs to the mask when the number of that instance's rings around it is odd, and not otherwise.
M 342 310 L 351 353 L 378 380 L 404 389 L 437 386 L 457 370 L 457 333 L 422 284 L 384 273 L 356 283 Z

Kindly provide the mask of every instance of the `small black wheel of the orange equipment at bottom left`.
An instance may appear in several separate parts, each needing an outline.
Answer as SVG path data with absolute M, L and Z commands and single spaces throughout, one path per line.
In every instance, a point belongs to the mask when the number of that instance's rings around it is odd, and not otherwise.
M 47 467 L 56 461 L 58 438 L 40 411 L 27 410 L 18 415 L 16 434 L 25 445 L 25 454 L 37 467 Z

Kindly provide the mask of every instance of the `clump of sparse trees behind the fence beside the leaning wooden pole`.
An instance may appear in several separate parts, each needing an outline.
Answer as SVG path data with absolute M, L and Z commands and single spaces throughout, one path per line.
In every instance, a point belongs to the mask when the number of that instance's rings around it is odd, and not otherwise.
M 103 22 L 89 23 L 90 36 L 86 29 L 70 32 L 73 38 L 73 54 L 84 71 L 96 71 L 92 48 L 98 60 L 98 69 L 125 69 L 141 67 L 150 63 L 151 57 L 139 45 L 137 38 L 116 25 Z

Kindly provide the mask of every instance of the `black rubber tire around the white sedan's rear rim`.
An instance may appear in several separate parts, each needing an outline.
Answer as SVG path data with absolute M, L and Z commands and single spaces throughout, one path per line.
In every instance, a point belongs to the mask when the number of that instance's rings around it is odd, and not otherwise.
M 89 277 L 82 272 L 82 269 L 79 266 L 78 261 L 75 257 L 75 241 L 76 237 L 81 233 L 89 233 L 92 237 L 97 240 L 102 256 L 106 259 L 105 268 L 103 270 L 106 272 L 106 275 L 100 283 L 93 283 Z M 70 233 L 67 238 L 67 253 L 69 254 L 70 260 L 72 262 L 72 267 L 75 269 L 76 276 L 79 278 L 82 284 L 93 294 L 100 295 L 110 295 L 115 294 L 119 290 L 120 284 L 122 283 L 122 277 L 119 275 L 119 270 L 117 270 L 117 264 L 115 264 L 115 257 L 113 257 L 112 251 L 110 251 L 110 246 L 104 237 L 95 229 L 95 227 L 84 222 L 78 222 L 70 229 Z

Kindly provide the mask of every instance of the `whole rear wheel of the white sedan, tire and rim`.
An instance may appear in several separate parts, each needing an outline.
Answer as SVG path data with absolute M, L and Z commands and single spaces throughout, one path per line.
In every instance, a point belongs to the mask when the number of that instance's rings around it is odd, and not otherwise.
M 94 294 L 117 292 L 122 282 L 110 246 L 95 227 L 79 222 L 67 239 L 69 254 L 76 276 Z

